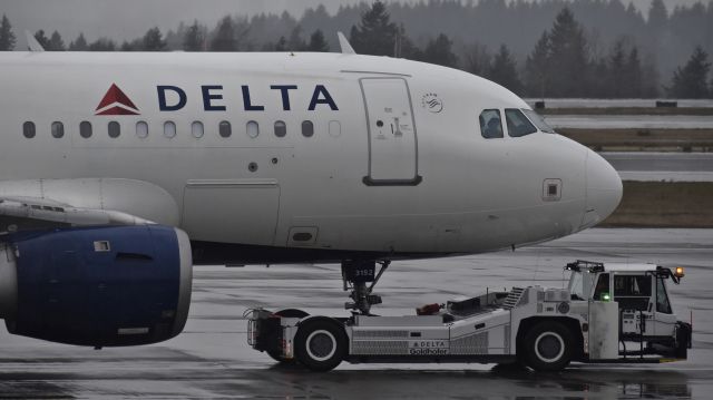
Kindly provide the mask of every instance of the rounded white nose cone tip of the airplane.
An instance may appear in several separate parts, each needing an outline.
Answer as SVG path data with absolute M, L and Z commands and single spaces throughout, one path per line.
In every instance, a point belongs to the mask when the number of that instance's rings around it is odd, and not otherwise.
M 622 178 L 614 167 L 595 152 L 587 153 L 587 202 L 582 227 L 606 219 L 622 201 Z

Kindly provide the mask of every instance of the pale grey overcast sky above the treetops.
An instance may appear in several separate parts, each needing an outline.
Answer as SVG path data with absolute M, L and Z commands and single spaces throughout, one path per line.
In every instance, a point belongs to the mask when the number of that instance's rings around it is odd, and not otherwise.
M 109 37 L 116 40 L 137 38 L 152 27 L 166 31 L 180 21 L 197 18 L 213 26 L 226 13 L 280 13 L 287 10 L 301 16 L 304 9 L 324 3 L 330 12 L 340 4 L 360 0 L 0 0 L 0 13 L 6 13 L 18 36 L 18 48 L 25 48 L 25 30 L 58 30 L 65 41 L 74 40 L 80 31 L 88 40 Z M 418 0 L 408 0 L 418 1 Z M 664 0 L 670 9 L 677 4 L 693 4 L 699 0 Z M 706 2 L 707 0 L 704 0 Z M 651 0 L 634 2 L 646 11 Z M 350 27 L 344 27 L 349 30 Z

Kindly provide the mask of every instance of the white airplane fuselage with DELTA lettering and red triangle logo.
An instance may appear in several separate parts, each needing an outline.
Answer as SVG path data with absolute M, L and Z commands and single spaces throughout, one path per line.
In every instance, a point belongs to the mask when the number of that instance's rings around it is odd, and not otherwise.
M 82 187 L 106 189 L 94 199 L 106 208 L 225 248 L 198 263 L 495 251 L 589 227 L 622 194 L 563 136 L 506 125 L 485 138 L 484 109 L 530 107 L 453 69 L 334 53 L 13 52 L 0 66 L 0 195 L 84 204 Z M 113 85 L 130 104 L 115 91 L 98 107 Z

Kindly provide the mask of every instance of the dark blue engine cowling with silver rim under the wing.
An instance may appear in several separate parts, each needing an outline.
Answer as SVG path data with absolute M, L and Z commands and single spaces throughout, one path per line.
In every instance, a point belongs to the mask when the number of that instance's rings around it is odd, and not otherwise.
M 170 339 L 186 323 L 193 265 L 180 230 L 67 228 L 2 242 L 0 318 L 10 333 L 78 345 L 138 345 Z

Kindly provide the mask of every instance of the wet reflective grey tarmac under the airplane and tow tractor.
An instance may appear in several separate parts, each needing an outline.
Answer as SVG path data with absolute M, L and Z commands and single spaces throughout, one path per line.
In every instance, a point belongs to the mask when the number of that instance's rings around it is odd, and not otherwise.
M 685 362 L 573 364 L 560 373 L 480 364 L 343 363 L 329 373 L 275 367 L 245 340 L 245 309 L 299 306 L 346 315 L 336 265 L 196 267 L 186 331 L 165 343 L 96 351 L 0 332 L 0 398 L 710 399 L 713 393 L 713 230 L 589 230 L 516 252 L 395 262 L 375 313 L 413 313 L 486 287 L 561 286 L 577 258 L 686 267 L 674 311 L 694 323 Z

